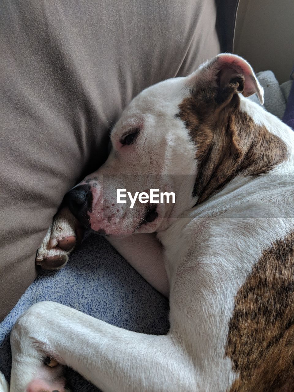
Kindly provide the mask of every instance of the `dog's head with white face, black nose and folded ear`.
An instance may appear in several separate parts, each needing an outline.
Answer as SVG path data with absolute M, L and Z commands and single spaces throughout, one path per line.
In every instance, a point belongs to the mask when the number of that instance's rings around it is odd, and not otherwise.
M 235 136 L 228 122 L 240 105 L 239 93 L 257 93 L 263 101 L 252 68 L 232 54 L 220 54 L 186 78 L 145 89 L 113 128 L 105 164 L 67 194 L 73 214 L 105 234 L 154 232 L 205 200 L 223 183 L 216 168 L 223 164 L 223 150 L 237 154 L 229 146 Z M 211 186 L 215 169 L 218 178 Z M 174 192 L 176 200 L 152 203 L 143 195 L 130 208 L 128 196 L 118 203 L 118 189 L 132 197 L 150 189 Z

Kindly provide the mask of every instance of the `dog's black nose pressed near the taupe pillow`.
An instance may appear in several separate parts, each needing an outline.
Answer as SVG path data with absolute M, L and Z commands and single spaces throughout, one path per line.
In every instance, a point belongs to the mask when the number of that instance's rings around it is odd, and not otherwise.
M 73 215 L 82 223 L 89 221 L 87 212 L 92 207 L 92 192 L 89 185 L 78 185 L 64 196 L 65 204 L 68 205 Z

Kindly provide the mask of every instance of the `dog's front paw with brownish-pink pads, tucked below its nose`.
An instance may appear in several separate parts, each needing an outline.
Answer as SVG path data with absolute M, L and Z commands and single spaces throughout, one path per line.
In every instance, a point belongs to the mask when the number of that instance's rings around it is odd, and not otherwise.
M 42 245 L 37 251 L 36 264 L 44 270 L 64 267 L 74 247 L 82 240 L 83 229 L 68 208 L 53 219 Z

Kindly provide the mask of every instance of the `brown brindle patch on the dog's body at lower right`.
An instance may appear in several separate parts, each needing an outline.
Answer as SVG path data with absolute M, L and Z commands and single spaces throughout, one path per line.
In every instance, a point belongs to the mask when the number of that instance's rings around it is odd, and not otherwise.
M 238 291 L 226 356 L 230 392 L 294 391 L 294 232 L 265 250 Z

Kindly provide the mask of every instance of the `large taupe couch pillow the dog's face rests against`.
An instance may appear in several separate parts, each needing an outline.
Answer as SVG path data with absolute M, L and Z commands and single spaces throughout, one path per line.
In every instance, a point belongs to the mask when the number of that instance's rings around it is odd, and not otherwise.
M 142 89 L 219 53 L 215 25 L 213 0 L 2 0 L 0 319 L 36 277 L 65 192 L 105 160 L 109 127 Z

